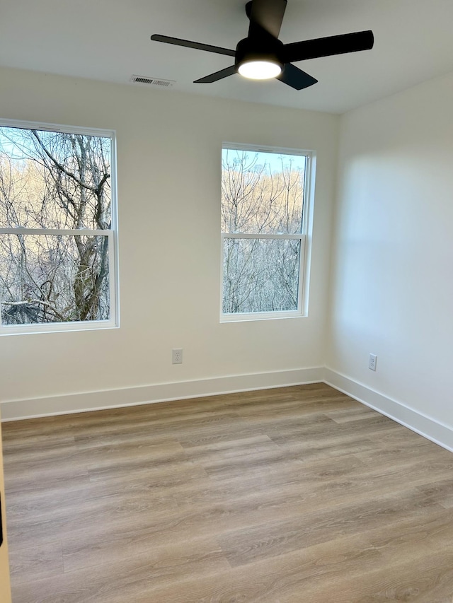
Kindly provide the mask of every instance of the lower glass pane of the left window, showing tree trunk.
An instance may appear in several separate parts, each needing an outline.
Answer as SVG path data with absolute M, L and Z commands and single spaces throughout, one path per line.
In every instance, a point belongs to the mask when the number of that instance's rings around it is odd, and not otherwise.
M 0 235 L 3 324 L 110 318 L 108 236 Z

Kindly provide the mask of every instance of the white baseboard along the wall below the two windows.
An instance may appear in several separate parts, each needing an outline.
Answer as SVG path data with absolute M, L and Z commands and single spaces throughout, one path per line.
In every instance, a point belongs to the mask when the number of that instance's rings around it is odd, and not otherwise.
M 273 387 L 317 383 L 323 381 L 323 377 L 324 368 L 315 367 L 11 400 L 1 403 L 1 418 L 2 421 L 16 421 L 23 418 L 113 409 L 120 406 L 169 402 L 233 392 L 267 390 Z

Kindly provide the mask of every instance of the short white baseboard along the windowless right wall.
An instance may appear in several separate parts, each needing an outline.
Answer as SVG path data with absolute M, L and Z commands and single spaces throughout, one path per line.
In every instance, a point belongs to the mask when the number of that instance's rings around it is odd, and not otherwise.
M 336 390 L 348 394 L 358 402 L 362 402 L 362 404 L 394 419 L 397 423 L 401 423 L 401 425 L 415 431 L 415 433 L 419 433 L 428 440 L 453 452 L 452 428 L 440 423 L 435 418 L 411 409 L 406 404 L 384 396 L 384 394 L 380 394 L 345 375 L 336 373 L 330 368 L 324 369 L 323 380 L 328 385 L 335 387 Z

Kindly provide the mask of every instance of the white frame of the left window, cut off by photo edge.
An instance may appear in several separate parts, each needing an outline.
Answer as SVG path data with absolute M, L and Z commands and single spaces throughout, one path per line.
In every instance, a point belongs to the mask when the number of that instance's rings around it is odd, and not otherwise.
M 1 322 L 0 300 L 0 336 L 13 334 L 53 333 L 92 331 L 98 329 L 114 329 L 120 326 L 119 313 L 119 274 L 118 274 L 118 229 L 117 229 L 117 165 L 116 165 L 116 131 L 113 129 L 88 128 L 50 124 L 47 122 L 30 122 L 17 119 L 0 118 L 0 127 L 18 129 L 35 129 L 38 131 L 62 132 L 64 134 L 81 134 L 110 139 L 110 229 L 96 230 L 55 229 L 55 228 L 1 228 L 0 235 L 75 235 L 75 236 L 105 236 L 108 238 L 108 279 L 110 318 L 108 320 L 80 320 L 73 322 L 43 322 L 25 324 L 3 324 Z

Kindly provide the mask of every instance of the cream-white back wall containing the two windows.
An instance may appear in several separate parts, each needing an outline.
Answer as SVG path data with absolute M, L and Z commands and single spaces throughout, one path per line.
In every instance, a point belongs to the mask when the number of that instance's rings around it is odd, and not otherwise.
M 4 418 L 319 378 L 338 116 L 1 69 L 0 117 L 115 129 L 120 223 L 120 329 L 0 336 Z M 316 151 L 309 317 L 219 324 L 222 141 Z

